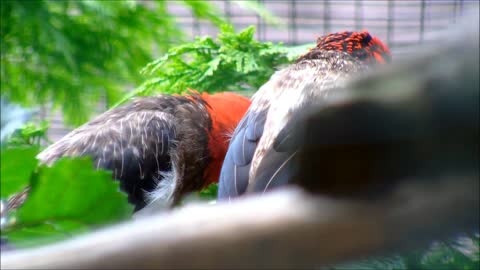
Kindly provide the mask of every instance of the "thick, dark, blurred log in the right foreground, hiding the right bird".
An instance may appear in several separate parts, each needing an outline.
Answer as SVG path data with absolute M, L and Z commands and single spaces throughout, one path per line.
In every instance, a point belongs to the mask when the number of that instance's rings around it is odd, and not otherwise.
M 413 47 L 297 115 L 287 150 L 297 151 L 297 184 L 315 194 L 369 199 L 404 185 L 449 187 L 435 196 L 471 190 L 462 197 L 478 208 L 478 17 L 472 12 L 439 32 L 442 42 Z M 478 214 L 452 205 L 476 218 L 478 228 Z

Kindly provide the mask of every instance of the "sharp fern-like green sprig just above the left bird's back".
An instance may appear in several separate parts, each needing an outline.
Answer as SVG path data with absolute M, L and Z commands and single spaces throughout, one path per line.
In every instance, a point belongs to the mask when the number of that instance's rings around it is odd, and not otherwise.
M 148 80 L 126 95 L 122 102 L 132 96 L 182 93 L 187 89 L 207 92 L 258 90 L 276 69 L 297 58 L 299 50 L 259 42 L 254 34 L 253 26 L 237 34 L 231 25 L 222 25 L 216 40 L 206 36 L 171 48 L 142 70 L 149 76 Z

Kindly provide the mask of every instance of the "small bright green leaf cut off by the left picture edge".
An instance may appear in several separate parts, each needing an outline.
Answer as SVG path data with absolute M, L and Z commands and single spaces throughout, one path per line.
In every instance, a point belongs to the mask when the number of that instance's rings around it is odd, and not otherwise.
M 1 162 L 1 197 L 8 198 L 25 188 L 37 167 L 37 147 L 19 147 L 2 149 Z

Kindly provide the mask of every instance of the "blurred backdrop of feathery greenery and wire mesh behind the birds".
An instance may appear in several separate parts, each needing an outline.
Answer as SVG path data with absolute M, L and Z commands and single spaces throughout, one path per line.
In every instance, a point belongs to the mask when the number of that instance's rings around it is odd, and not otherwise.
M 7 100 L 30 107 L 22 114 L 8 105 L 16 119 L 48 121 L 48 138 L 56 141 L 137 86 L 139 70 L 169 47 L 215 37 L 224 22 L 237 31 L 254 25 L 258 40 L 287 46 L 367 29 L 388 44 L 395 60 L 413 45 L 441 42 L 435 33 L 475 8 L 475 0 L 6 0 L 2 111 Z M 7 117 L 2 113 L 3 134 L 11 130 L 3 125 Z

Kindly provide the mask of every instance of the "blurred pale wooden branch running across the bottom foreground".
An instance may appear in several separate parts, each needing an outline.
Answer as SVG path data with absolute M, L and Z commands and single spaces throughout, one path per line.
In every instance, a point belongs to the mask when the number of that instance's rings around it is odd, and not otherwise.
M 478 179 L 409 187 L 386 201 L 338 201 L 295 189 L 192 205 L 31 250 L 2 269 L 311 268 L 399 251 L 474 229 Z M 454 203 L 453 203 L 454 202 Z

